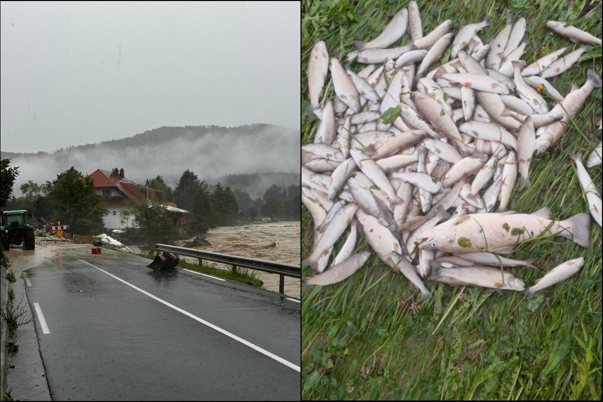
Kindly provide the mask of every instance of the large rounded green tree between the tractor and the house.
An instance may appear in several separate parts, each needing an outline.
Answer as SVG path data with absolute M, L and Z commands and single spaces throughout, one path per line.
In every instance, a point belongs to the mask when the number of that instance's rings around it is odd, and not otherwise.
M 57 175 L 49 186 L 52 219 L 69 225 L 77 234 L 98 234 L 103 216 L 109 211 L 101 207 L 101 196 L 94 190 L 90 177 L 82 177 L 74 166 Z

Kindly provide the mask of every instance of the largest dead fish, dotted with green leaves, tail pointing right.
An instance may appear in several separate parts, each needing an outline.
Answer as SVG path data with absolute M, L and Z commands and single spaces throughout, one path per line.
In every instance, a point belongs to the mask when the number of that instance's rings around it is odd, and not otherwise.
M 419 248 L 449 253 L 496 251 L 508 254 L 513 246 L 538 236 L 558 236 L 572 239 L 582 247 L 590 247 L 590 219 L 587 213 L 578 213 L 565 221 L 549 219 L 550 211 L 473 213 L 459 216 L 437 225 L 417 239 Z

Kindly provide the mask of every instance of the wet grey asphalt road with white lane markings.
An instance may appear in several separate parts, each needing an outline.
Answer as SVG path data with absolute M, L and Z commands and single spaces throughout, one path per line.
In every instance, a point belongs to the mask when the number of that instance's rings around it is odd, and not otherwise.
M 300 303 L 179 268 L 151 271 L 148 260 L 116 251 L 86 252 L 60 251 L 24 274 L 53 400 L 300 399 Z

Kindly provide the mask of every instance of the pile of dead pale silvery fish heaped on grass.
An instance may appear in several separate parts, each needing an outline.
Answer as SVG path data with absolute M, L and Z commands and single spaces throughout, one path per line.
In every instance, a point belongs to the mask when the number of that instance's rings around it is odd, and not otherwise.
M 359 230 L 423 298 L 431 293 L 422 278 L 523 291 L 531 298 L 584 265 L 582 258 L 564 262 L 525 289 L 501 266 L 535 268 L 534 261 L 499 254 L 552 235 L 590 247 L 588 213 L 557 221 L 546 207 L 525 214 L 507 206 L 518 174 L 519 186 L 531 185 L 532 155 L 557 143 L 593 89 L 601 87 L 592 70 L 586 83 L 565 96 L 546 78 L 571 68 L 591 45 L 601 46 L 601 39 L 549 21 L 548 28 L 579 43 L 578 49 L 563 55 L 569 49 L 564 47 L 526 65 L 525 19 L 513 23 L 507 16 L 507 25 L 484 44 L 478 33 L 489 25 L 485 19 L 455 35 L 446 20 L 424 36 L 411 1 L 375 39 L 355 42 L 357 50 L 347 60 L 367 64 L 356 73 L 338 58 L 329 63 L 324 42 L 315 44 L 307 72 L 308 112 L 320 124 L 314 143 L 302 146 L 301 198 L 315 228 L 302 265 L 318 274 L 304 284 L 337 283 L 362 268 L 370 251 L 353 253 Z M 407 30 L 408 43 L 388 47 Z M 449 46 L 450 60 L 434 66 Z M 329 70 L 336 97 L 321 99 Z M 542 92 L 557 101 L 551 110 Z M 593 155 L 587 166 L 601 163 L 601 143 Z M 601 196 L 579 155 L 572 157 L 590 213 L 601 225 Z M 346 233 L 327 268 L 333 245 Z

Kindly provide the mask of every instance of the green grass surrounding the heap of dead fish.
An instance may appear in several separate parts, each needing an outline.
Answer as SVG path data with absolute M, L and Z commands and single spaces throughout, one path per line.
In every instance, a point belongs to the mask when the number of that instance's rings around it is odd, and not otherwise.
M 601 2 L 580 15 L 588 1 L 477 0 L 450 3 L 418 1 L 427 34 L 445 19 L 461 25 L 490 16 L 491 27 L 479 33 L 487 43 L 505 24 L 525 17 L 524 39 L 530 40 L 528 63 L 561 46 L 577 45 L 545 27 L 546 20 L 567 21 L 601 36 Z M 308 117 L 306 71 L 309 52 L 324 40 L 329 55 L 340 60 L 354 49 L 353 40 L 379 34 L 407 1 L 303 2 L 302 9 L 302 142 L 311 142 L 317 119 Z M 508 4 L 508 8 L 505 7 Z M 535 4 L 538 7 L 535 7 Z M 406 43 L 408 34 L 397 45 Z M 447 53 L 444 54 L 447 57 Z M 353 66 L 355 71 L 359 66 Z M 587 69 L 601 75 L 601 47 L 585 52 L 579 63 L 549 80 L 562 94 L 582 85 Z M 334 96 L 330 75 L 324 99 Z M 552 107 L 554 101 L 549 100 Z M 570 151 L 584 160 L 601 139 L 601 89 L 587 99 L 561 140 L 532 160 L 532 186 L 511 195 L 509 209 L 531 213 L 549 207 L 554 219 L 587 212 Z M 587 169 L 601 189 L 601 166 Z M 302 255 L 309 254 L 311 216 L 303 207 Z M 343 245 L 336 243 L 333 256 Z M 427 282 L 434 297 L 420 294 L 402 275 L 373 255 L 355 275 L 325 288 L 302 289 L 302 398 L 314 399 L 581 399 L 601 398 L 601 228 L 592 221 L 589 249 L 562 237 L 523 243 L 510 258 L 537 259 L 542 271 L 584 257 L 578 274 L 525 300 L 519 292 L 499 296 L 490 289 L 450 287 Z M 358 250 L 368 245 L 364 236 Z M 528 286 L 543 275 L 529 268 L 510 268 Z M 304 275 L 311 275 L 304 269 Z M 418 304 L 418 309 L 415 309 Z M 416 310 L 416 312 L 414 312 Z

